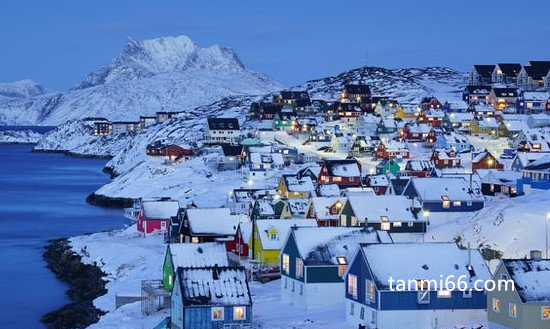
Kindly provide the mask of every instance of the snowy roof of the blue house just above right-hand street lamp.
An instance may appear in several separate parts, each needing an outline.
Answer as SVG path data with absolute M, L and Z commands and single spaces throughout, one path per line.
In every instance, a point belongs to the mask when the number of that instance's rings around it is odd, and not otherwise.
M 470 192 L 470 184 L 463 178 L 413 178 L 412 184 L 423 201 L 442 201 L 443 197 L 450 201 L 484 200 L 477 183 L 472 181 Z

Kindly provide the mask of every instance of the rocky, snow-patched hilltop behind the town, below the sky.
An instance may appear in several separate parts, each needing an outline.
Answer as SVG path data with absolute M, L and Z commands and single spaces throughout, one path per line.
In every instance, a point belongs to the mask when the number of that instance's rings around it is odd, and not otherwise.
M 419 103 L 422 97 L 460 100 L 467 75 L 446 67 L 385 69 L 361 67 L 334 77 L 315 79 L 293 89 L 307 90 L 311 98 L 334 98 L 348 83 L 371 86 L 373 95 L 396 98 L 402 104 Z

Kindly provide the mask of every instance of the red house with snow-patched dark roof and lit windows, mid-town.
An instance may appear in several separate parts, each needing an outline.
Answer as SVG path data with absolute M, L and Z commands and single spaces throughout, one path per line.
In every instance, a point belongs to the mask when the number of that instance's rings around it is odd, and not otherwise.
M 361 164 L 355 159 L 324 160 L 319 184 L 336 184 L 340 188 L 361 186 Z

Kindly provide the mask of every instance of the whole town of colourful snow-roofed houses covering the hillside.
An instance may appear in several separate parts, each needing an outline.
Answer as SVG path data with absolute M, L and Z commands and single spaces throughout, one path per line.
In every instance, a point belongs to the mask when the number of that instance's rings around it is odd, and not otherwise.
M 545 246 L 518 259 L 431 232 L 436 216 L 467 221 L 488 203 L 550 190 L 549 81 L 550 61 L 531 61 L 475 65 L 461 100 L 399 102 L 361 81 L 330 99 L 285 90 L 252 102 L 246 118 L 208 117 L 197 144 L 150 143 L 143 152 L 159 167 L 197 158 L 239 179 L 221 208 L 134 200 L 131 229 L 143 241 L 161 237 L 166 252 L 162 277 L 141 278 L 141 295 L 117 295 L 117 307 L 162 310 L 156 328 L 259 328 L 251 285 L 275 283 L 297 312 L 342 306 L 338 323 L 349 328 L 549 328 L 548 231 Z M 105 136 L 180 115 L 85 122 Z M 540 206 L 547 225 L 550 204 Z M 440 276 L 455 288 L 388 284 Z M 474 290 L 477 280 L 516 289 Z

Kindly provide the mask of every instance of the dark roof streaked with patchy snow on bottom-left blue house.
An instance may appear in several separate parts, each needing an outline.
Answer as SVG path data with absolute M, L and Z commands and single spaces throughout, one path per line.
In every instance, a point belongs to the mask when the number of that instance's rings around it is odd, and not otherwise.
M 244 267 L 180 267 L 177 274 L 184 306 L 252 305 Z

